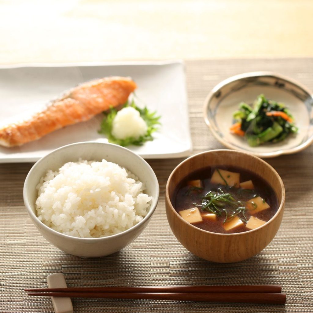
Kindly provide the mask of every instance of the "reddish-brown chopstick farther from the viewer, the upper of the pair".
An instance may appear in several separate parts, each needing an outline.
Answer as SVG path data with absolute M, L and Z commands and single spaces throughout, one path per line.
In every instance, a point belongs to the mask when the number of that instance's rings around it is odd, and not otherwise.
M 177 292 L 209 292 L 209 293 L 281 293 L 281 286 L 145 286 L 145 287 L 70 287 L 70 288 L 37 288 L 24 289 L 30 292 L 135 292 L 135 293 L 177 293 Z

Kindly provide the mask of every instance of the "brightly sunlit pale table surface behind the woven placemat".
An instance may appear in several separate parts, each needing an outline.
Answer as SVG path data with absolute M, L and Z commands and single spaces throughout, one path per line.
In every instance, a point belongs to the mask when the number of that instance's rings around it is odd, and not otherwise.
M 0 1 L 0 64 L 313 56 L 311 0 Z

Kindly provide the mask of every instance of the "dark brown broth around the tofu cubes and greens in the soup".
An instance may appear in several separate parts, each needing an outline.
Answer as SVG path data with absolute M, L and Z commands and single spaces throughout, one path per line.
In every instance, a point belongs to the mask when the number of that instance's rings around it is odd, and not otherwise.
M 252 180 L 254 184 L 253 190 L 248 189 L 241 189 L 235 187 L 228 187 L 219 184 L 212 184 L 210 182 L 212 174 L 216 169 L 207 167 L 201 169 L 200 171 L 193 172 L 192 174 L 185 177 L 180 184 L 177 186 L 173 197 L 171 199 L 173 203 L 173 207 L 177 212 L 182 210 L 186 210 L 189 208 L 194 208 L 195 204 L 201 204 L 202 198 L 209 192 L 209 191 L 217 191 L 218 188 L 221 188 L 223 192 L 231 193 L 234 198 L 238 201 L 246 202 L 251 198 L 254 198 L 256 195 L 262 197 L 266 203 L 269 204 L 270 208 L 260 211 L 258 213 L 254 213 L 253 215 L 249 213 L 249 210 L 245 211 L 245 216 L 249 220 L 251 216 L 259 218 L 263 221 L 269 221 L 277 212 L 278 210 L 278 199 L 274 192 L 274 190 L 269 186 L 267 182 L 264 181 L 261 177 L 257 176 L 252 172 L 245 171 L 241 168 L 236 167 L 228 167 L 228 166 L 219 166 L 219 169 L 227 170 L 230 172 L 237 172 L 240 173 L 240 182 L 245 182 Z M 202 181 L 203 189 L 193 188 L 188 185 L 188 182 L 191 180 L 198 180 Z M 204 213 L 211 213 L 208 211 L 203 211 L 200 206 L 198 206 L 200 212 Z M 194 223 L 194 226 L 198 228 L 214 232 L 214 233 L 242 233 L 248 231 L 249 229 L 244 226 L 240 226 L 231 230 L 226 231 L 223 228 L 223 222 L 225 221 L 225 215 L 216 216 L 216 221 L 203 219 L 200 223 Z

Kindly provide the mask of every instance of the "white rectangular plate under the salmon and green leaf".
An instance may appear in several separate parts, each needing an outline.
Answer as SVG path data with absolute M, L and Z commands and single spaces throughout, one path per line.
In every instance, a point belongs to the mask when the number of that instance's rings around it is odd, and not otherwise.
M 128 62 L 19 66 L 0 69 L 0 127 L 36 112 L 50 100 L 82 82 L 105 76 L 130 76 L 141 103 L 161 115 L 155 139 L 128 146 L 146 159 L 188 156 L 192 151 L 184 65 L 173 62 Z M 0 163 L 35 162 L 50 151 L 74 142 L 107 139 L 98 134 L 103 115 L 67 126 L 20 147 L 0 147 Z

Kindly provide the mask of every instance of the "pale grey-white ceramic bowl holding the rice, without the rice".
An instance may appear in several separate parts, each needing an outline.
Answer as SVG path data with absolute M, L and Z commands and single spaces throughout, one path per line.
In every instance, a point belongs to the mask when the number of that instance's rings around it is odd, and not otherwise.
M 49 170 L 58 170 L 67 162 L 83 160 L 101 161 L 105 159 L 125 167 L 135 174 L 146 186 L 145 192 L 152 196 L 147 215 L 135 226 L 115 235 L 101 238 L 78 238 L 49 228 L 37 215 L 35 202 L 38 197 L 36 186 Z M 38 231 L 60 250 L 80 257 L 100 257 L 112 254 L 135 240 L 148 225 L 159 198 L 159 184 L 150 165 L 136 153 L 121 146 L 100 142 L 79 142 L 63 146 L 41 158 L 29 171 L 23 190 L 25 208 Z

